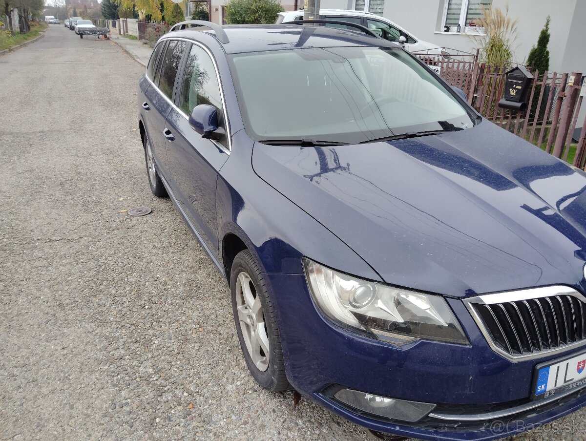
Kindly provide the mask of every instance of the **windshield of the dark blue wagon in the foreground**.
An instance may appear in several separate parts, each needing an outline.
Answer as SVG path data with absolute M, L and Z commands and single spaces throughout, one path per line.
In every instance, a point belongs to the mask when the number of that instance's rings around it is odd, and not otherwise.
M 255 140 L 365 143 L 463 130 L 475 117 L 401 49 L 309 48 L 231 56 L 247 132 Z

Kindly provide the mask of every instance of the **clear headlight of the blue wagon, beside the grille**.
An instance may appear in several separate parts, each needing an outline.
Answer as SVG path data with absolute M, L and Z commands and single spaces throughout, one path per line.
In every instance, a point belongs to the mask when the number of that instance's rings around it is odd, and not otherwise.
M 338 324 L 394 344 L 418 338 L 468 344 L 441 296 L 348 276 L 306 257 L 304 268 L 315 303 Z

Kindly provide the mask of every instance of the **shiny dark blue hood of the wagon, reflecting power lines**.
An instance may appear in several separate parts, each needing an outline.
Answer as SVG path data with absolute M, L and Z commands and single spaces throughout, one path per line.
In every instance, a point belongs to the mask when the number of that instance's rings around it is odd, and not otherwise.
M 255 143 L 253 168 L 390 284 L 471 296 L 584 278 L 586 175 L 488 121 L 362 145 Z

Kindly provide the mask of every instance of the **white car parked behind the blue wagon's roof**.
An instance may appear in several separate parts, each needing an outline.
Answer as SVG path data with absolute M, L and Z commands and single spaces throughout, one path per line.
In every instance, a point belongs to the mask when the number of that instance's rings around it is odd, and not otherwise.
M 276 23 L 288 23 L 302 20 L 303 13 L 304 11 L 302 9 L 299 11 L 279 12 Z M 380 15 L 373 14 L 372 12 L 349 11 L 346 9 L 320 9 L 319 19 L 343 21 L 362 25 L 382 38 L 402 45 L 409 52 L 426 52 L 430 55 L 441 55 L 442 53 L 443 48 L 438 48 L 438 45 L 418 39 L 411 32 L 407 32 L 407 30 L 401 28 L 401 26 L 398 26 L 396 23 L 393 23 Z M 341 25 L 325 26 L 343 28 Z M 350 27 L 347 29 L 356 30 L 355 28 Z

